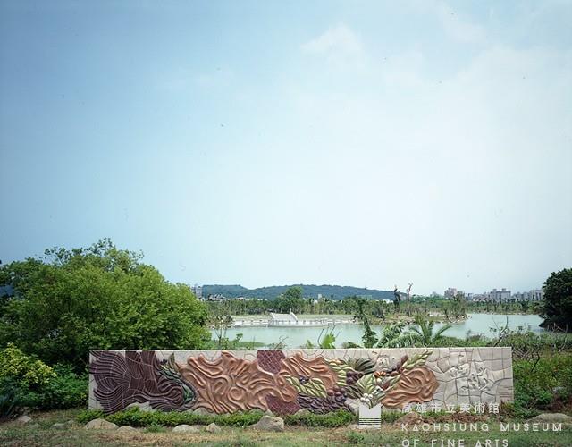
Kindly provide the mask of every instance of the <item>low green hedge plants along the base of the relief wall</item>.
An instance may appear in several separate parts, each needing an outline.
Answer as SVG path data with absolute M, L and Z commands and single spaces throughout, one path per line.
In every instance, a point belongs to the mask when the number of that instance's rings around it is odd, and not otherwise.
M 105 415 L 100 410 L 82 411 L 77 417 L 78 422 L 86 424 L 98 417 L 105 418 L 118 426 L 178 426 L 208 425 L 215 423 L 219 426 L 251 426 L 256 424 L 264 414 L 261 411 L 248 413 L 233 413 L 230 415 L 198 415 L 194 413 L 181 413 L 178 411 L 142 411 L 138 408 L 118 411 Z M 290 426 L 346 426 L 355 422 L 357 418 L 349 411 L 338 410 L 325 415 L 289 415 L 284 417 L 284 423 Z

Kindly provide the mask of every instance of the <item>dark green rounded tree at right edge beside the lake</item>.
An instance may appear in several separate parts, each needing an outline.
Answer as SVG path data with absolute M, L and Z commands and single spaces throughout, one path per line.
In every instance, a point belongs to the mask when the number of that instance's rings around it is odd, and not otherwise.
M 541 326 L 572 332 L 572 268 L 552 272 L 544 282 Z

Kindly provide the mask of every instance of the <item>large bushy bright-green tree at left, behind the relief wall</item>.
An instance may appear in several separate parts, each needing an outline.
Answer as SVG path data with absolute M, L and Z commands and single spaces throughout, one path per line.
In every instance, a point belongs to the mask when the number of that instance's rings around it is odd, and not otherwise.
M 88 249 L 0 267 L 0 346 L 82 369 L 95 349 L 194 349 L 209 339 L 206 308 L 142 255 L 100 240 Z

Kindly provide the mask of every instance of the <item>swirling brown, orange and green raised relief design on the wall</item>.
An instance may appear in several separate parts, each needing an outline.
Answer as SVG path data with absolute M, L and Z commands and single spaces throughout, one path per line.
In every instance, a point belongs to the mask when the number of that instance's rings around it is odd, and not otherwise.
M 390 408 L 431 401 L 438 386 L 424 367 L 431 353 L 380 367 L 370 358 L 311 357 L 302 351 L 286 356 L 282 350 L 258 350 L 253 359 L 229 351 L 211 359 L 199 353 L 184 362 L 174 354 L 159 362 L 151 350 L 94 351 L 90 374 L 97 385 L 93 394 L 106 412 L 148 402 L 153 409 L 219 414 L 250 409 L 292 414 L 301 408 L 327 413 L 347 409 L 349 398 Z

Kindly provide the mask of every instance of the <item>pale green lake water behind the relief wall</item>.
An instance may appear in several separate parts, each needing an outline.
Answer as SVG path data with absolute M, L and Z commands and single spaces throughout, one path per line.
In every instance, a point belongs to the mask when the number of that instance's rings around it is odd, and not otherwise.
M 537 315 L 502 315 L 502 314 L 468 314 L 469 318 L 461 323 L 453 324 L 445 334 L 450 337 L 464 338 L 467 331 L 471 333 L 483 333 L 485 336 L 491 337 L 493 334 L 490 328 L 503 327 L 509 318 L 509 328 L 517 329 L 522 326 L 524 329 L 531 330 L 535 333 L 543 331 L 540 323 L 543 319 Z M 435 327 L 441 327 L 442 324 L 435 324 Z M 382 331 L 381 325 L 372 326 L 374 331 L 379 335 Z M 227 331 L 227 337 L 233 339 L 237 333 L 242 333 L 244 342 L 264 342 L 267 344 L 279 342 L 285 337 L 284 342 L 288 348 L 298 348 L 305 344 L 307 340 L 317 344 L 318 336 L 324 327 L 233 327 Z M 325 330 L 324 330 L 325 333 Z M 342 342 L 355 342 L 361 344 L 361 336 L 363 334 L 361 325 L 339 325 L 334 329 L 336 335 L 336 346 L 341 346 Z

